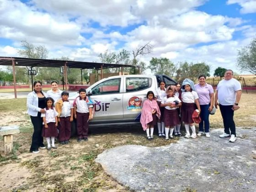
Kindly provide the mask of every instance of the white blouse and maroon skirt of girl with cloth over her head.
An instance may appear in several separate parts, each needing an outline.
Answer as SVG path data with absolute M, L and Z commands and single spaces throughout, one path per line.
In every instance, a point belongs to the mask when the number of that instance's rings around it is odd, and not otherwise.
M 194 123 L 192 120 L 192 113 L 196 109 L 195 100 L 198 99 L 196 91 L 184 91 L 181 94 L 182 106 L 181 106 L 181 121 L 191 124 Z

